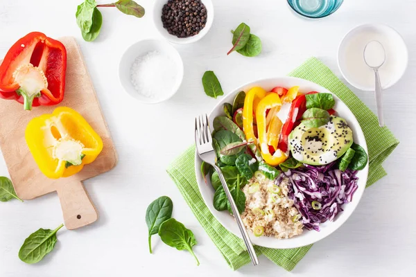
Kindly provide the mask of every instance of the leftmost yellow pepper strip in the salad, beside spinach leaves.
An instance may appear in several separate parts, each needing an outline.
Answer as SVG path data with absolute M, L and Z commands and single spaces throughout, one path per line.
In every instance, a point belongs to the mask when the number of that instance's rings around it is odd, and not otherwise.
M 261 87 L 253 87 L 245 95 L 243 107 L 243 130 L 245 139 L 247 139 L 247 141 L 253 141 L 254 143 L 257 143 L 257 138 L 254 135 L 253 111 L 257 109 L 259 101 L 263 99 L 264 96 L 266 96 L 266 91 Z

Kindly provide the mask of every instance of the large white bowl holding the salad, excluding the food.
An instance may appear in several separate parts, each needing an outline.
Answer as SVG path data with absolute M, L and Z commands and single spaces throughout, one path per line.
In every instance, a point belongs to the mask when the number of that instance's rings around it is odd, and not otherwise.
M 300 79 L 300 78 L 293 78 L 293 77 L 281 77 L 281 78 L 269 78 L 269 79 L 263 79 L 258 80 L 255 82 L 250 82 L 248 84 L 245 84 L 241 87 L 238 87 L 234 89 L 231 93 L 228 93 L 227 96 L 225 96 L 219 103 L 214 107 L 214 109 L 211 111 L 211 114 L 209 114 L 209 124 L 212 126 L 214 118 L 216 116 L 223 115 L 223 103 L 229 102 L 232 103 L 236 94 L 239 93 L 239 91 L 248 91 L 248 89 L 252 87 L 262 87 L 263 89 L 266 89 L 266 91 L 270 91 L 273 87 L 294 87 L 299 86 L 300 92 L 307 93 L 309 91 L 319 91 L 319 92 L 326 92 L 331 93 L 328 89 L 325 89 L 324 87 L 321 87 L 319 84 L 315 84 L 314 82 L 310 82 L 308 80 Z M 352 113 L 352 111 L 349 110 L 347 105 L 343 101 L 341 101 L 338 97 L 335 95 L 333 98 L 336 101 L 335 106 L 333 109 L 337 111 L 338 116 L 345 118 L 347 120 L 347 123 L 349 127 L 352 129 L 353 136 L 354 136 L 354 142 L 361 145 L 365 152 L 368 153 L 367 150 L 367 144 L 365 143 L 365 137 L 363 134 L 363 130 L 360 127 L 360 124 L 356 120 L 356 117 Z M 212 130 L 211 130 L 212 131 Z M 241 238 L 241 233 L 239 231 L 239 227 L 237 226 L 234 217 L 232 215 L 229 215 L 227 211 L 216 211 L 216 209 L 213 206 L 213 199 L 214 199 L 214 188 L 210 186 L 210 184 L 205 184 L 204 179 L 202 178 L 202 174 L 200 172 L 200 166 L 201 161 L 198 157 L 198 154 L 195 156 L 195 171 L 196 171 L 196 180 L 198 181 L 198 186 L 200 189 L 200 193 L 202 195 L 202 198 L 205 201 L 205 204 L 207 204 L 209 211 L 216 217 L 218 222 L 222 224 L 228 231 L 234 233 L 234 235 Z M 354 193 L 354 197 L 352 197 L 352 202 L 349 202 L 345 205 L 343 205 L 344 211 L 338 213 L 335 220 L 333 222 L 324 222 L 320 224 L 320 231 L 314 231 L 314 230 L 307 230 L 304 229 L 303 233 L 301 235 L 297 235 L 293 238 L 289 239 L 282 239 L 279 240 L 277 238 L 273 237 L 255 237 L 251 231 L 248 231 L 250 235 L 250 239 L 254 244 L 257 244 L 261 247 L 269 247 L 274 249 L 288 249 L 288 248 L 296 248 L 296 247 L 303 247 L 305 245 L 312 244 L 314 242 L 318 242 L 318 240 L 322 240 L 323 238 L 327 237 L 327 235 L 330 235 L 333 231 L 336 231 L 341 225 L 344 224 L 344 222 L 348 219 L 350 215 L 354 212 L 356 206 L 358 205 L 358 202 L 360 202 L 361 196 L 363 195 L 365 185 L 367 184 L 367 175 L 368 175 L 368 163 L 367 166 L 363 170 L 358 171 L 357 177 L 358 177 L 358 189 Z

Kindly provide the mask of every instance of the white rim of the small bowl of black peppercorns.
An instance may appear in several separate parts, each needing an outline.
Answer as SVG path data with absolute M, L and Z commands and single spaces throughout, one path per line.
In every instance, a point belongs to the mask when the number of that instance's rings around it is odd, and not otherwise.
M 202 39 L 202 37 L 205 37 L 209 30 L 211 29 L 211 26 L 214 22 L 214 4 L 211 0 L 200 0 L 204 5 L 205 8 L 207 8 L 207 23 L 205 24 L 205 27 L 200 30 L 200 32 L 197 35 L 193 35 L 192 37 L 176 37 L 175 35 L 171 35 L 168 33 L 168 31 L 163 28 L 159 28 L 159 24 L 157 24 L 156 20 L 160 20 L 159 12 L 156 10 L 157 3 L 164 1 L 165 3 L 168 2 L 168 0 L 155 0 L 152 7 L 152 15 L 153 15 L 153 25 L 155 26 L 157 32 L 159 35 L 164 37 L 164 39 L 168 40 L 168 42 L 172 42 L 174 44 L 191 44 L 193 42 L 198 42 L 198 40 Z M 157 16 L 156 16 L 157 15 Z

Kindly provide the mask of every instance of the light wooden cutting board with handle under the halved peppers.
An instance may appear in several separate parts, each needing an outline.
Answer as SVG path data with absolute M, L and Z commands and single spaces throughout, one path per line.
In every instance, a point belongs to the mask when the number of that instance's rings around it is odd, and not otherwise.
M 95 222 L 98 218 L 96 208 L 82 181 L 114 168 L 117 154 L 76 40 L 73 37 L 62 37 L 59 40 L 67 48 L 64 100 L 56 106 L 33 107 L 32 111 L 24 111 L 23 105 L 18 102 L 0 98 L 0 148 L 17 195 L 28 200 L 56 191 L 65 226 L 67 229 L 77 229 Z M 42 114 L 51 114 L 58 106 L 71 107 L 78 111 L 101 136 L 104 146 L 97 159 L 78 174 L 49 179 L 40 172 L 29 152 L 24 132 L 29 120 Z

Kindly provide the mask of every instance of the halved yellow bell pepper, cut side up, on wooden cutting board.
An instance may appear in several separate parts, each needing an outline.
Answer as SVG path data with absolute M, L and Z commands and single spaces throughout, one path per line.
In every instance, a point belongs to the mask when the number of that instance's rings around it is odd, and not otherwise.
M 74 175 L 92 163 L 103 141 L 87 121 L 69 107 L 33 118 L 26 127 L 26 143 L 40 171 L 58 179 Z

